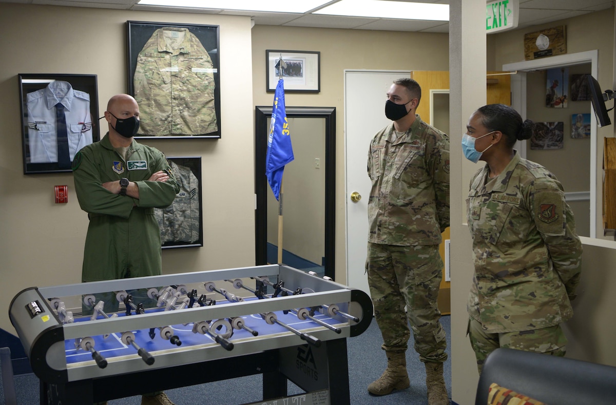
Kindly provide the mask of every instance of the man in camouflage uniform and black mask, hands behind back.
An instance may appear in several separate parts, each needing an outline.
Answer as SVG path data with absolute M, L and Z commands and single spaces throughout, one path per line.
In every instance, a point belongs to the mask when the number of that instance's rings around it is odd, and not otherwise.
M 449 403 L 443 377 L 447 341 L 437 307 L 439 244 L 449 226 L 449 138 L 415 114 L 420 98 L 413 79 L 394 81 L 385 108 L 394 122 L 375 135 L 368 155 L 366 268 L 387 355 L 387 369 L 368 391 L 386 395 L 409 387 L 410 322 L 415 350 L 426 365 L 428 402 L 436 405 Z

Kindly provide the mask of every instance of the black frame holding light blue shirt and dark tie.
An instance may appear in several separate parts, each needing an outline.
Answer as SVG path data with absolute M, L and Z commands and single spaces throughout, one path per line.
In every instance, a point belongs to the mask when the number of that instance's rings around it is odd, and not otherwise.
M 79 149 L 100 140 L 97 76 L 22 73 L 17 79 L 23 174 L 72 173 Z

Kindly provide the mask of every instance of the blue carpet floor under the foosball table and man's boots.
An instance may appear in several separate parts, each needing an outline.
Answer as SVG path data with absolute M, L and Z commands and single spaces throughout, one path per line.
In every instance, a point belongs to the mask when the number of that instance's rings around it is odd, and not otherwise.
M 451 356 L 450 345 L 450 316 L 443 316 L 441 323 L 447 331 L 447 353 Z M 349 356 L 349 390 L 351 391 L 351 404 L 427 404 L 426 399 L 426 371 L 419 355 L 415 350 L 407 351 L 407 369 L 411 386 L 406 390 L 394 391 L 387 396 L 373 396 L 367 391 L 368 384 L 381 376 L 387 365 L 385 353 L 381 350 L 381 332 L 376 321 L 370 323 L 363 334 L 347 339 L 347 352 Z M 412 347 L 410 342 L 409 346 Z M 451 361 L 444 364 L 445 383 L 451 395 L 452 369 Z M 17 403 L 19 405 L 33 405 L 39 403 L 39 380 L 34 374 L 23 374 L 14 377 Z M 169 398 L 177 405 L 201 404 L 233 405 L 253 403 L 261 400 L 261 375 L 252 375 L 219 382 L 211 382 L 192 387 L 176 388 L 166 391 Z M 111 387 L 111 389 L 113 389 Z M 288 395 L 300 394 L 303 391 L 293 383 L 288 383 Z M 4 404 L 4 392 L 0 387 L 0 404 Z M 139 405 L 140 397 L 115 399 L 109 401 L 110 405 Z M 332 404 L 336 405 L 336 404 Z

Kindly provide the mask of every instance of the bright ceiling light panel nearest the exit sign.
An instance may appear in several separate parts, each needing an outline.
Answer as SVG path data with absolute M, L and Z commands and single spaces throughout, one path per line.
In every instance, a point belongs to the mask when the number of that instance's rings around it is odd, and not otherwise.
M 312 14 L 449 21 L 449 5 L 385 0 L 341 0 Z

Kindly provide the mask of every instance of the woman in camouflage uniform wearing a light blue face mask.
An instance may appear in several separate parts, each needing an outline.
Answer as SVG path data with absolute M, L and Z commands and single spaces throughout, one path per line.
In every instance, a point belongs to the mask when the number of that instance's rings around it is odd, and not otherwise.
M 462 139 L 466 158 L 486 162 L 466 200 L 475 265 L 468 333 L 479 372 L 499 347 L 565 355 L 560 324 L 573 315 L 582 244 L 561 183 L 513 149 L 532 127 L 491 104 L 471 115 Z

